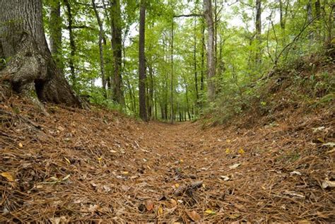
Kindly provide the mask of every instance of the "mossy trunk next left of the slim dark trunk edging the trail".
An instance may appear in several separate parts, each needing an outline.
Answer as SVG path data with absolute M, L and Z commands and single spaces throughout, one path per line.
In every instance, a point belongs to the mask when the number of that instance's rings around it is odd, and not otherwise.
M 122 18 L 119 0 L 110 0 L 111 3 L 111 25 L 112 25 L 112 51 L 113 51 L 113 81 L 112 99 L 121 105 L 124 104 L 122 93 Z

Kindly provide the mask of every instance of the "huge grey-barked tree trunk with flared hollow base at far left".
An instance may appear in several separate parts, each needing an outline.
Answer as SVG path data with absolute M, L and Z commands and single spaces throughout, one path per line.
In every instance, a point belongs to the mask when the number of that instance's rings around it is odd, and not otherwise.
M 83 106 L 52 59 L 42 23 L 41 0 L 0 1 L 0 42 L 9 58 L 0 71 L 13 90 L 41 101 Z

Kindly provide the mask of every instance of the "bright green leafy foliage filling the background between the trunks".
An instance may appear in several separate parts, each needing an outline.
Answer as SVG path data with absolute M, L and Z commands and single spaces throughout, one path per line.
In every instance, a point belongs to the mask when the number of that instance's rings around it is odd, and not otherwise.
M 44 22 L 49 34 L 49 8 L 59 0 L 44 0 Z M 139 20 L 139 1 L 122 0 L 122 90 L 124 105 L 115 105 L 112 90 L 101 88 L 99 54 L 99 26 L 89 0 L 69 1 L 74 17 L 76 52 L 71 56 L 68 21 L 62 7 L 64 28 L 61 59 L 64 73 L 69 78 L 69 61 L 74 60 L 76 71 L 75 90 L 89 95 L 90 102 L 103 107 L 122 107 L 123 112 L 139 111 L 139 37 L 136 33 Z M 104 29 L 105 78 L 112 81 L 113 54 L 110 43 L 110 1 L 95 1 Z M 235 2 L 235 1 L 234 1 Z M 312 6 L 312 20 L 308 17 L 308 0 L 283 0 L 283 21 L 278 20 L 278 1 L 261 1 L 261 35 L 254 30 L 256 8 L 254 1 L 218 0 L 213 3 L 216 11 L 216 100 L 206 101 L 206 44 L 207 31 L 204 18 L 199 16 L 175 17 L 183 14 L 201 14 L 202 1 L 153 1 L 146 4 L 146 75 L 148 107 L 154 107 L 156 118 L 169 119 L 171 108 L 192 119 L 201 114 L 211 114 L 213 122 L 227 122 L 244 112 L 266 114 L 278 109 L 276 93 L 286 89 L 286 104 L 298 102 L 307 107 L 321 107 L 334 100 L 334 73 L 320 72 L 318 64 L 308 62 L 308 55 L 330 55 L 325 45 L 334 42 L 332 5 L 321 1 L 317 16 Z M 228 6 L 231 5 L 231 6 Z M 216 8 L 215 8 L 216 6 Z M 264 19 L 265 18 L 265 19 Z M 173 43 L 172 43 L 173 21 Z M 237 24 L 233 24 L 237 21 Z M 282 22 L 282 23 L 281 23 Z M 203 35 L 203 28 L 204 35 Z M 173 66 L 171 52 L 173 44 Z M 334 45 L 334 43 L 333 43 Z M 204 47 L 204 48 L 203 48 Z M 202 51 L 204 49 L 204 53 Z M 194 52 L 195 50 L 195 52 Z M 333 49 L 334 50 L 334 49 Z M 334 54 L 334 53 L 333 53 Z M 302 60 L 303 59 L 303 60 Z M 321 61 L 334 63 L 332 57 Z M 1 64 L 0 64 L 1 66 Z M 173 67 L 173 71 L 172 71 Z M 302 76 L 301 72 L 308 74 Z M 274 71 L 274 72 L 273 72 Z M 173 72 L 173 78 L 172 77 Z M 266 78 L 271 73 L 271 77 Z M 203 78 L 201 78 L 203 76 Z M 259 79 L 262 79 L 259 81 Z M 277 81 L 277 79 L 283 79 Z M 201 83 L 202 81 L 202 83 Z M 172 90 L 170 88 L 172 84 Z M 196 85 L 197 84 L 197 85 Z M 112 85 L 110 85 L 112 86 Z M 197 86 L 197 89 L 196 89 Z M 301 88 L 302 90 L 300 90 Z M 152 91 L 152 99 L 151 97 Z M 173 100 L 171 103 L 171 96 Z M 152 104 L 152 105 L 151 105 Z M 156 115 L 155 115 L 156 116 Z

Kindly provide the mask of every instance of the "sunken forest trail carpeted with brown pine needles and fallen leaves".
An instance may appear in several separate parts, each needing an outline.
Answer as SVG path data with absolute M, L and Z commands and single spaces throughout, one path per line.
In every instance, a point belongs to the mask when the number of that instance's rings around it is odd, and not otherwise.
M 334 150 L 322 146 L 334 141 L 332 112 L 203 129 L 59 106 L 41 117 L 18 100 L 8 105 L 0 106 L 0 223 L 335 220 L 334 188 L 322 188 L 334 180 Z

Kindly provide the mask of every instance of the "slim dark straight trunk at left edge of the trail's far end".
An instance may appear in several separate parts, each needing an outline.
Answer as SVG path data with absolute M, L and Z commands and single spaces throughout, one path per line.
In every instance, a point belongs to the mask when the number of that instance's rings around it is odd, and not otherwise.
M 146 113 L 146 0 L 141 0 L 139 16 L 139 116 L 145 122 L 148 121 Z

